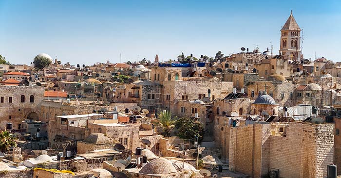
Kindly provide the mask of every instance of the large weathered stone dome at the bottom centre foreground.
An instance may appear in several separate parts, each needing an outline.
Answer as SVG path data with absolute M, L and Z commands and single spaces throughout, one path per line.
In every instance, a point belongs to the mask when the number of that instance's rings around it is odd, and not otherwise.
M 140 170 L 142 174 L 170 174 L 173 172 L 176 172 L 176 169 L 172 162 L 164 158 L 155 159 Z

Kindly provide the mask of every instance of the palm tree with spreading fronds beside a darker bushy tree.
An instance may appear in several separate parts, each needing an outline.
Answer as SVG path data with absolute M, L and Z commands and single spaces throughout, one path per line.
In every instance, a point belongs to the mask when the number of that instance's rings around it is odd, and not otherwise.
M 164 137 L 169 137 L 171 130 L 174 129 L 175 127 L 174 125 L 175 122 L 176 122 L 176 119 L 172 118 L 171 112 L 166 111 L 166 112 L 159 113 L 159 116 L 153 122 L 153 124 L 155 124 L 156 126 L 160 126 L 162 128 L 162 135 Z

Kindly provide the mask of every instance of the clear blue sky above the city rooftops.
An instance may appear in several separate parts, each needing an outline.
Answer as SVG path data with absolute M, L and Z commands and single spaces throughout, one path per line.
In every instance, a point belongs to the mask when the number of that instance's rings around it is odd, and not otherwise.
M 0 54 L 29 64 L 39 53 L 91 65 L 214 56 L 241 47 L 278 53 L 293 10 L 304 57 L 341 61 L 340 0 L 0 0 Z

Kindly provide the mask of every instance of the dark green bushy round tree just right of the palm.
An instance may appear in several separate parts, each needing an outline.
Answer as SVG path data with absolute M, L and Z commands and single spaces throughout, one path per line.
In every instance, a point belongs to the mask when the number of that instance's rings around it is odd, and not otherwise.
M 178 130 L 178 136 L 183 139 L 198 137 L 201 141 L 204 135 L 204 126 L 188 117 L 179 118 L 175 123 L 175 128 Z

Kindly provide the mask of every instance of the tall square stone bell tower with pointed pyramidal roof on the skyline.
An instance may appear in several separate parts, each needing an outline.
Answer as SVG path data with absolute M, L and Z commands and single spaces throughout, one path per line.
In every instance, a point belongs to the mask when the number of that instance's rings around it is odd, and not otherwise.
M 289 18 L 281 29 L 280 46 L 280 54 L 289 60 L 301 60 L 301 31 L 291 10 Z

